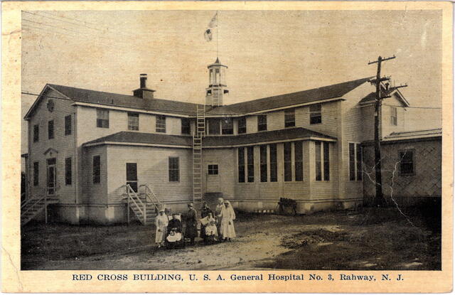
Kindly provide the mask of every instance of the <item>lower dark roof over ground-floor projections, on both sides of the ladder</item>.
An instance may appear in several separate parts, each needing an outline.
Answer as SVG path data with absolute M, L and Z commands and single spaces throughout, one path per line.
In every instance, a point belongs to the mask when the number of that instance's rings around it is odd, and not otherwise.
M 291 139 L 314 139 L 336 141 L 335 137 L 305 128 L 289 128 L 267 132 L 257 132 L 240 135 L 205 136 L 203 147 L 242 146 L 257 144 L 259 142 L 289 141 Z M 169 135 L 142 132 L 117 132 L 99 139 L 88 141 L 83 146 L 95 146 L 99 144 L 132 144 L 132 145 L 156 145 L 156 146 L 180 146 L 191 148 L 193 138 L 183 135 Z

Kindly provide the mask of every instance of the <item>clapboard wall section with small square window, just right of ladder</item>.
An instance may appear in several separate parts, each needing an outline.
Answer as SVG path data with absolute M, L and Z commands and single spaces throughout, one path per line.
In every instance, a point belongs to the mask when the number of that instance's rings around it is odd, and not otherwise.
M 237 149 L 204 149 L 203 150 L 203 189 L 208 191 L 208 181 L 211 181 L 211 188 L 218 186 L 218 191 L 211 190 L 210 193 L 223 193 L 225 196 L 234 195 L 235 169 L 237 169 Z M 218 163 L 218 176 L 208 175 L 208 164 Z

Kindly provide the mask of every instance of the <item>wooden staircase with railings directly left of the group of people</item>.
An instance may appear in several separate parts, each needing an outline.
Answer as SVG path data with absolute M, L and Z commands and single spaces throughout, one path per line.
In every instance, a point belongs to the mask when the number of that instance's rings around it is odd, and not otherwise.
M 156 215 L 163 204 L 156 197 L 153 190 L 147 185 L 139 186 L 139 191 L 136 193 L 131 186 L 124 186 L 127 192 L 126 202 L 128 204 L 128 223 L 130 218 L 130 209 L 134 216 L 141 222 L 142 225 L 153 225 Z

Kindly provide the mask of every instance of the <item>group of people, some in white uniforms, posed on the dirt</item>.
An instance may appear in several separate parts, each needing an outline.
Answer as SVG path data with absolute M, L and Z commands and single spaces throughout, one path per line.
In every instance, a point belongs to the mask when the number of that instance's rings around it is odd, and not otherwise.
M 171 215 L 171 218 L 168 216 Z M 235 212 L 228 200 L 218 198 L 215 212 L 213 212 L 206 202 L 200 209 L 200 219 L 194 208 L 193 203 L 188 204 L 188 212 L 185 215 L 186 230 L 184 237 L 188 238 L 191 245 L 198 237 L 198 222 L 200 222 L 200 237 L 204 242 L 229 241 L 235 237 Z M 156 236 L 155 242 L 158 247 L 167 242 L 176 242 L 182 239 L 182 220 L 179 214 L 166 214 L 164 208 L 159 210 L 156 216 Z

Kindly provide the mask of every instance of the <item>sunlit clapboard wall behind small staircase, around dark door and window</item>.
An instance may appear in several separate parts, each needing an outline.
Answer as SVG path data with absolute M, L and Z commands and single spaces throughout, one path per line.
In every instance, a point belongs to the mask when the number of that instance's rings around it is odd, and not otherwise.
M 180 181 L 168 180 L 168 157 L 177 156 L 180 166 Z M 127 182 L 126 163 L 137 163 L 140 184 L 153 188 L 158 198 L 166 202 L 188 202 L 193 195 L 191 149 L 170 149 L 146 146 L 107 147 L 107 194 L 109 203 L 121 202 Z

